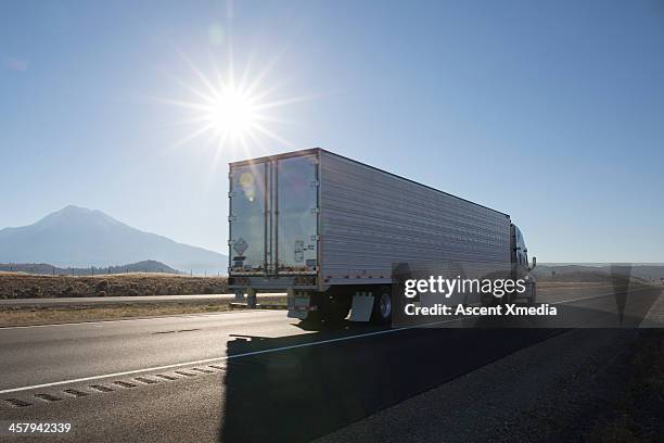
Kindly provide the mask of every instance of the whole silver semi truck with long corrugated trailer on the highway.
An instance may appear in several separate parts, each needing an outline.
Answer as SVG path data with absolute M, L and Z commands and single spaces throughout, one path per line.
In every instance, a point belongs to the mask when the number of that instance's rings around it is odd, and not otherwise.
M 353 308 L 354 320 L 388 322 L 394 263 L 532 269 L 509 215 L 332 152 L 229 166 L 229 287 L 250 306 L 256 293 L 286 292 L 289 317 L 335 321 Z

